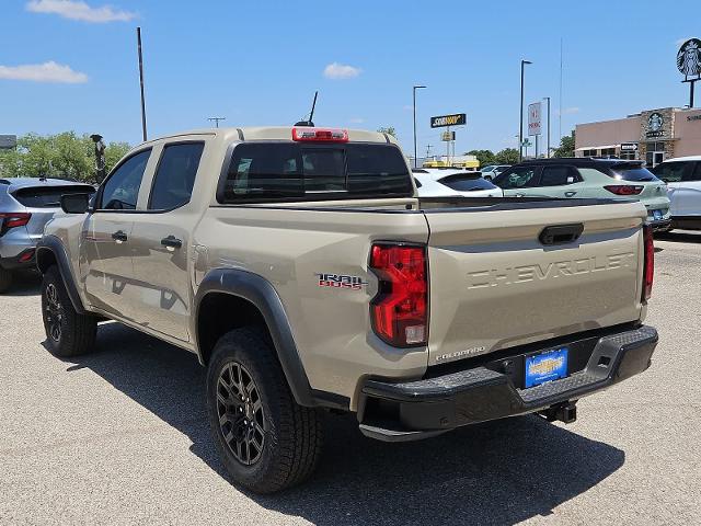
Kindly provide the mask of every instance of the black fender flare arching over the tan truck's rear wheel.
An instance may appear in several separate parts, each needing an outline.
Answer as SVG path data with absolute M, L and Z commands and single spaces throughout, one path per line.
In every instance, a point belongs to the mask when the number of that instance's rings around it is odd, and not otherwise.
M 237 296 L 250 301 L 260 310 L 267 324 L 277 358 L 297 403 L 310 408 L 348 409 L 349 400 L 346 397 L 311 388 L 292 336 L 292 329 L 277 290 L 275 290 L 271 282 L 249 271 L 241 268 L 212 268 L 205 275 L 197 288 L 194 316 L 191 318 L 191 334 L 194 335 L 197 356 L 203 365 L 205 362 L 197 334 L 199 307 L 205 297 L 212 293 Z

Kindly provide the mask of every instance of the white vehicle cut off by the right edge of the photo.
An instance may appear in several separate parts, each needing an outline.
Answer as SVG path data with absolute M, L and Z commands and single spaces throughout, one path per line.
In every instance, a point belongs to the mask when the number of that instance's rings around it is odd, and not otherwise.
M 701 156 L 668 159 L 651 171 L 667 183 L 671 227 L 701 229 Z

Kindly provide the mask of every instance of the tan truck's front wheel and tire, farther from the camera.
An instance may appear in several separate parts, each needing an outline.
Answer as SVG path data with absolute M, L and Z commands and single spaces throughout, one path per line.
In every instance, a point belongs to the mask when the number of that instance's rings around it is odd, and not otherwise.
M 46 344 L 53 355 L 79 356 L 95 346 L 97 320 L 76 311 L 57 266 L 49 267 L 42 281 L 42 317 Z

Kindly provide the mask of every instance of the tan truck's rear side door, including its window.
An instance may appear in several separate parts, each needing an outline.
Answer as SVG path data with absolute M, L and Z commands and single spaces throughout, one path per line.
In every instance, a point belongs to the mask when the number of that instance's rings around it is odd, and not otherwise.
M 189 341 L 191 233 L 200 214 L 191 205 L 204 140 L 166 144 L 159 155 L 148 204 L 131 231 L 139 300 L 135 321 Z

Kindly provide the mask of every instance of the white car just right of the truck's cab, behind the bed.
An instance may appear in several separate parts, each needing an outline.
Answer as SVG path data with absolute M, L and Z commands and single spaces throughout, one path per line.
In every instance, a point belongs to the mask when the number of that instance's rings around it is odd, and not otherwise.
M 503 197 L 504 192 L 480 172 L 418 168 L 413 170 L 420 197 Z

